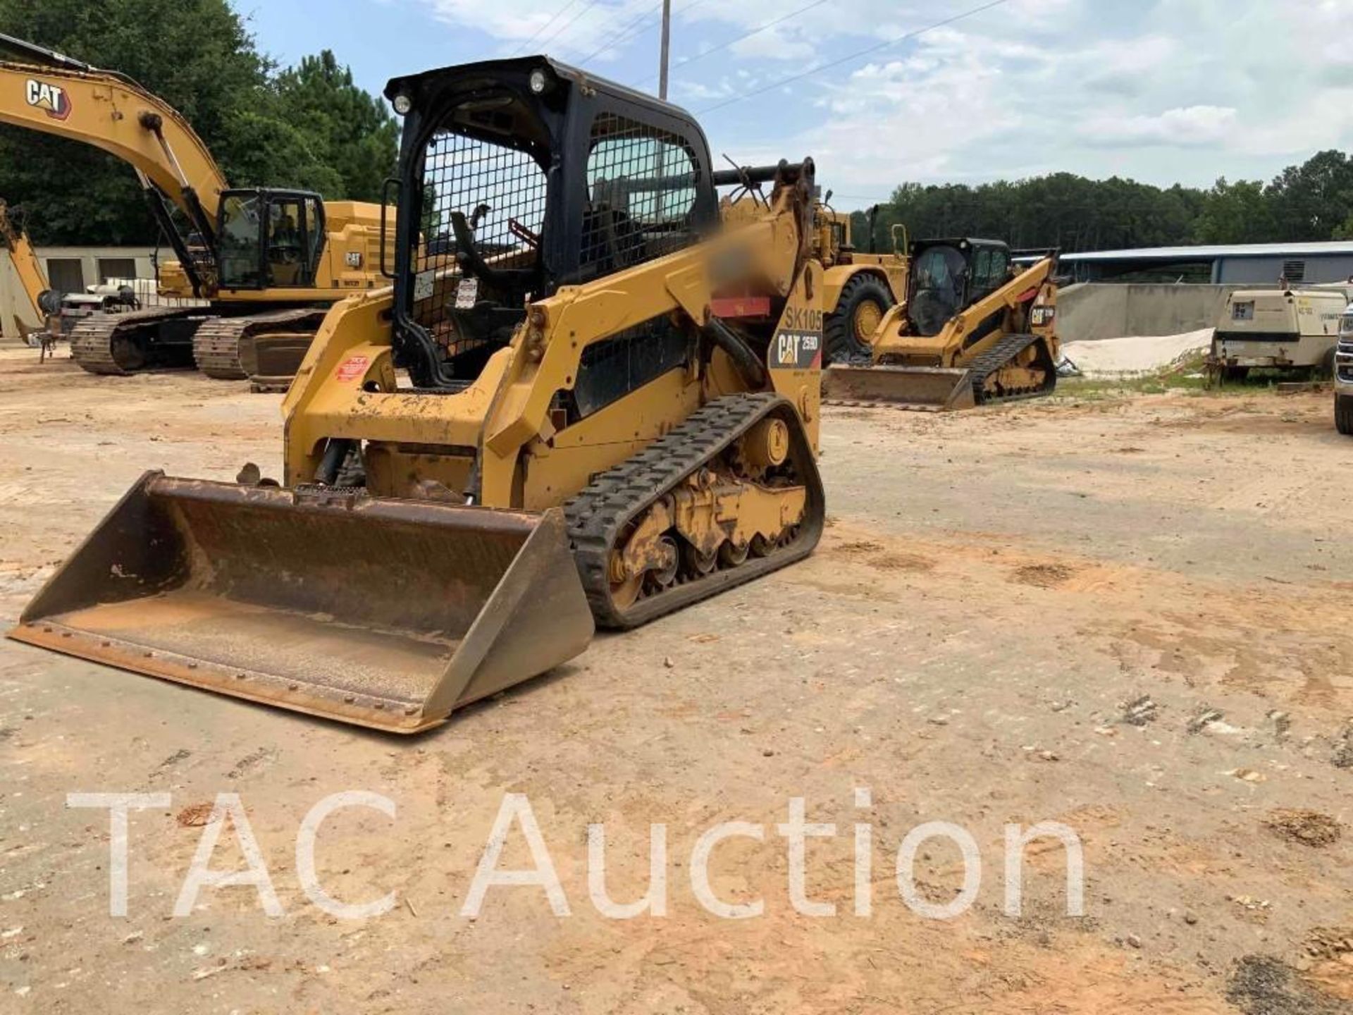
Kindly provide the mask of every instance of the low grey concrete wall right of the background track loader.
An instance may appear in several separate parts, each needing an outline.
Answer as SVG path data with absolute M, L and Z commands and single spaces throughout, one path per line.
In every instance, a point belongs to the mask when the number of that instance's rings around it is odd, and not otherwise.
M 1057 333 L 1063 342 L 1181 334 L 1212 328 L 1226 298 L 1242 286 L 1095 283 L 1057 294 Z

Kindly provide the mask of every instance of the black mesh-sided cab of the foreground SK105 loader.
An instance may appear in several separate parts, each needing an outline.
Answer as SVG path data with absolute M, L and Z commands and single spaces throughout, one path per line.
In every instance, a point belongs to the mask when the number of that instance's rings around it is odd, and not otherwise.
M 709 145 L 675 106 L 547 57 L 399 77 L 386 96 L 405 118 L 395 360 L 421 387 L 474 380 L 530 300 L 718 226 Z

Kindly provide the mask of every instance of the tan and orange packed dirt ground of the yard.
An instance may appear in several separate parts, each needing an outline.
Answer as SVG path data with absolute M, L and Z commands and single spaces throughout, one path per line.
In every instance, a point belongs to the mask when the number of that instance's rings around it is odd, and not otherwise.
M 91 378 L 0 353 L 0 621 L 146 468 L 233 479 L 280 466 L 280 398 L 198 375 Z M 1353 440 L 1329 395 L 1061 397 L 955 415 L 831 409 L 829 528 L 808 562 L 394 739 L 0 644 L 0 1011 L 1227 1012 L 1353 1011 Z M 856 800 L 869 789 L 869 803 Z M 302 890 L 296 831 L 340 790 L 325 889 L 396 893 L 377 918 Z M 169 793 L 130 820 L 129 915 L 108 915 L 110 824 L 73 792 Z M 505 793 L 525 793 L 571 915 L 536 886 L 461 916 Z M 172 909 L 218 793 L 238 793 L 284 915 L 252 886 Z M 796 912 L 775 826 L 804 797 Z M 695 839 L 764 826 L 710 863 Z M 966 828 L 976 903 L 902 901 L 894 857 Z M 1030 847 L 1005 912 L 1007 823 Z M 667 827 L 664 916 L 643 895 Z M 851 827 L 873 831 L 855 915 Z M 528 866 L 520 827 L 503 866 Z M 227 827 L 212 858 L 239 869 Z M 958 849 L 921 847 L 944 903 Z M 969 873 L 971 870 L 969 869 Z

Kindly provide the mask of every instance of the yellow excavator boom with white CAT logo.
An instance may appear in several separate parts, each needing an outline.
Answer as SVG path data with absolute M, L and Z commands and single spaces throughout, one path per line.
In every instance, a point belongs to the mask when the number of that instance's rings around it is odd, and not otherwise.
M 227 184 L 183 115 L 115 72 L 28 58 L 0 60 L 0 123 L 80 141 L 120 158 L 137 171 L 143 188 L 154 187 L 172 200 L 211 245 Z

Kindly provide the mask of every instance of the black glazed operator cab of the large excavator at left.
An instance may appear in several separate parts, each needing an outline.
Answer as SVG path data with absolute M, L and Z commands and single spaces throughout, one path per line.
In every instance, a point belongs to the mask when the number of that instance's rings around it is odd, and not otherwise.
M 325 203 L 311 191 L 225 191 L 216 246 L 222 290 L 314 288 Z

